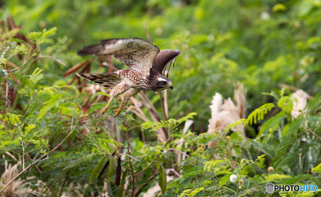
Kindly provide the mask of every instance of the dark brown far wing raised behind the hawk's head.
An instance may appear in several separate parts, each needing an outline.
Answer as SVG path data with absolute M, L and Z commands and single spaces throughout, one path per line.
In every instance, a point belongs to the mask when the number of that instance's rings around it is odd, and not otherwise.
M 173 68 L 175 64 L 175 59 L 176 57 L 181 53 L 181 50 L 171 50 L 171 49 L 165 49 L 161 50 L 157 56 L 155 57 L 155 60 L 152 64 L 152 69 L 156 70 L 162 75 L 165 75 L 165 70 L 166 68 L 169 68 L 173 62 Z M 167 72 L 167 77 L 168 77 L 168 72 Z

